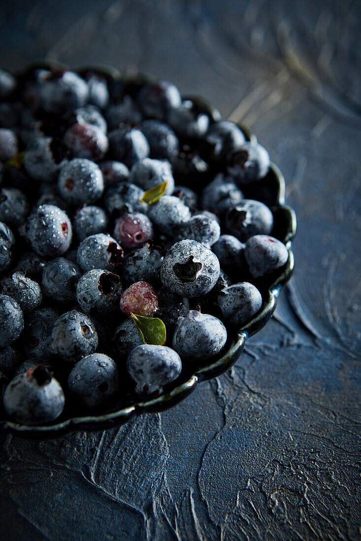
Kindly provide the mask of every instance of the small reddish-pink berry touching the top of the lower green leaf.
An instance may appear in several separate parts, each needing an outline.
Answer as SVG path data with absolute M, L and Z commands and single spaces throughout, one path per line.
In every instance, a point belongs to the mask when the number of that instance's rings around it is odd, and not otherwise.
M 148 282 L 132 283 L 120 297 L 120 309 L 128 317 L 131 313 L 151 317 L 158 310 L 158 295 Z

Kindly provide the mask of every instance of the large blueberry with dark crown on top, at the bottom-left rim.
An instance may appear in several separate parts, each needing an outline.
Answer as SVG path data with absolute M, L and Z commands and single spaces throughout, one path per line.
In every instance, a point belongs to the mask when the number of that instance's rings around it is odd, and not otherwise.
M 24 425 L 53 421 L 63 411 L 65 397 L 59 382 L 42 366 L 17 375 L 4 393 L 11 419 Z

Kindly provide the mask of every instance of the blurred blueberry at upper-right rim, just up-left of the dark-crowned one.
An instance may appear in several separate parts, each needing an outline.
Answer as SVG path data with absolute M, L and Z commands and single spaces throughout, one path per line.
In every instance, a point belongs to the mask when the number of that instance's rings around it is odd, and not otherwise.
M 206 136 L 209 153 L 212 160 L 223 161 L 240 147 L 245 141 L 245 137 L 237 124 L 228 120 L 222 120 L 211 124 Z

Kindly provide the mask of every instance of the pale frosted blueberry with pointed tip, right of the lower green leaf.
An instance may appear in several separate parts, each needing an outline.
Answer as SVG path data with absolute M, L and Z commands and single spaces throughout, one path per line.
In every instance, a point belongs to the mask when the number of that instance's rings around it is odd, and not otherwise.
M 177 321 L 172 347 L 182 360 L 205 360 L 220 353 L 226 341 L 227 331 L 222 321 L 190 310 Z

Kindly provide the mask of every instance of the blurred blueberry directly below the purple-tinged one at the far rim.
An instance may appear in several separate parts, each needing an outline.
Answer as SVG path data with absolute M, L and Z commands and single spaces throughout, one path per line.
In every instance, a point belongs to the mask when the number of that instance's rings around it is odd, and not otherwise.
M 179 141 L 167 124 L 158 120 L 145 120 L 141 123 L 141 131 L 149 142 L 151 158 L 172 160 L 179 148 Z

